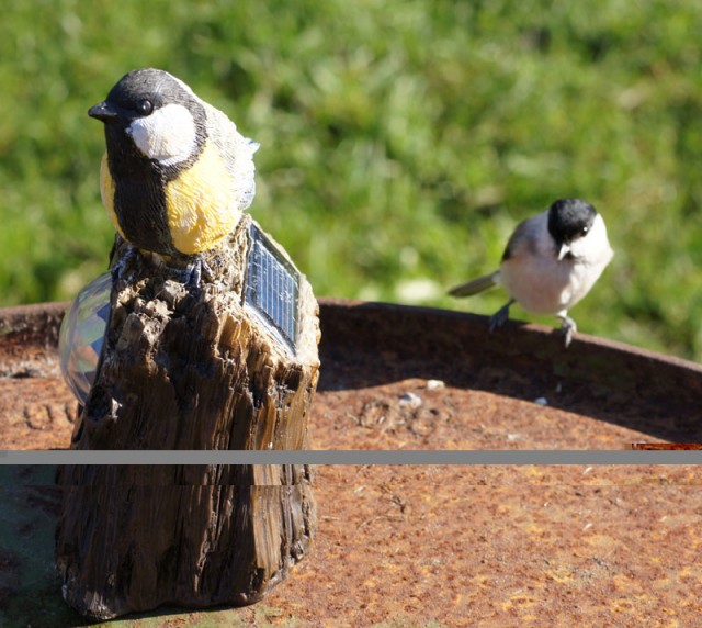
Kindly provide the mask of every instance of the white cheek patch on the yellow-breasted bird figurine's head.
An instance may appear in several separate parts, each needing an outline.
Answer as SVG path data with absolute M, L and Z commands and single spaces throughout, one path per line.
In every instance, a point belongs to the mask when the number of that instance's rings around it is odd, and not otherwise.
M 195 148 L 195 123 L 182 104 L 167 104 L 127 126 L 137 148 L 163 166 L 188 159 Z

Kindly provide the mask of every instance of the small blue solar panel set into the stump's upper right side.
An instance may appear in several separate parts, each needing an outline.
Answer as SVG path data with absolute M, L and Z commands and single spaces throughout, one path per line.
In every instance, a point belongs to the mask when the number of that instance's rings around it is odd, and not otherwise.
M 299 271 L 251 224 L 244 302 L 293 354 L 297 346 Z

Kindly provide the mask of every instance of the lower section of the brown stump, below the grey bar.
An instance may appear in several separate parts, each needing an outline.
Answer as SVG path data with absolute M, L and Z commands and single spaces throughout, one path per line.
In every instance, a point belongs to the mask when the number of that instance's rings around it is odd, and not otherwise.
M 64 598 L 92 619 L 163 604 L 251 604 L 314 534 L 303 466 L 91 466 L 59 475 Z

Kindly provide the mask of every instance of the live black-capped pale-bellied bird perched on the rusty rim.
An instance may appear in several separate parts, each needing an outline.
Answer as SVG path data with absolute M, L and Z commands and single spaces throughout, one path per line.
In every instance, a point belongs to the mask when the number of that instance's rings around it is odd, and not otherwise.
M 469 296 L 501 285 L 510 300 L 490 318 L 490 332 L 506 323 L 509 306 L 519 302 L 534 314 L 558 316 L 567 347 L 577 330 L 568 310 L 590 291 L 613 255 L 597 210 L 580 199 L 561 199 L 517 226 L 499 270 L 449 294 Z

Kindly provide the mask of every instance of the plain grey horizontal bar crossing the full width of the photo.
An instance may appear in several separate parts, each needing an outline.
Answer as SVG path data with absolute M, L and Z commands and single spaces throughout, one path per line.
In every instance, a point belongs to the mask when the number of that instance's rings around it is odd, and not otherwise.
M 0 451 L 0 464 L 702 464 L 702 451 Z

